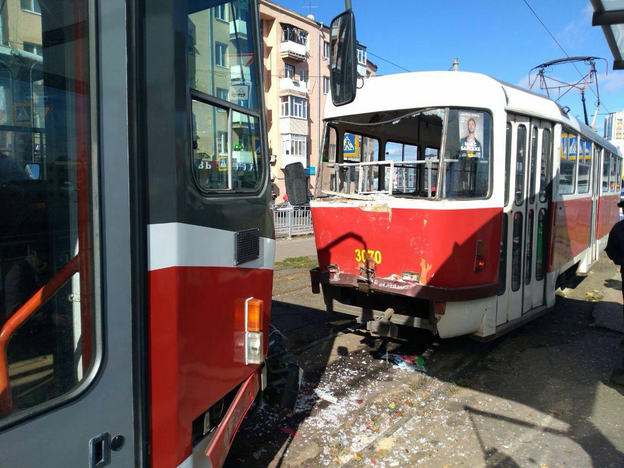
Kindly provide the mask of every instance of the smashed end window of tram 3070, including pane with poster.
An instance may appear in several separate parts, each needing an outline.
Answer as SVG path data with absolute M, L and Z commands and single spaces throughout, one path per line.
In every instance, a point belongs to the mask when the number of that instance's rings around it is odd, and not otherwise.
M 490 115 L 481 110 L 396 110 L 326 122 L 316 197 L 487 197 L 490 133 Z

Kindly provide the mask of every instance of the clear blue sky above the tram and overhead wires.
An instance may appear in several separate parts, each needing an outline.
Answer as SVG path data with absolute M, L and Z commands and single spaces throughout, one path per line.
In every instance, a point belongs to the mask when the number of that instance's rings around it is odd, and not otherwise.
M 598 56 L 600 97 L 608 110 L 624 109 L 624 72 L 612 70 L 613 56 L 600 27 L 592 27 L 589 0 L 528 0 L 569 56 Z M 277 0 L 301 14 L 308 14 L 306 0 Z M 523 0 L 352 0 L 358 41 L 369 52 L 410 71 L 448 70 L 459 57 L 461 71 L 480 72 L 507 82 L 526 86 L 529 70 L 565 55 Z M 312 14 L 328 24 L 344 9 L 341 0 L 313 0 Z M 379 74 L 400 73 L 401 69 L 369 55 Z M 587 67 L 578 66 L 583 74 Z M 552 76 L 564 81 L 580 78 L 572 66 L 559 66 Z M 534 88 L 535 89 L 535 88 Z M 596 97 L 587 90 L 587 107 L 592 119 Z M 582 118 L 577 90 L 560 101 Z M 603 107 L 600 112 L 606 112 Z M 598 115 L 602 132 L 604 115 Z

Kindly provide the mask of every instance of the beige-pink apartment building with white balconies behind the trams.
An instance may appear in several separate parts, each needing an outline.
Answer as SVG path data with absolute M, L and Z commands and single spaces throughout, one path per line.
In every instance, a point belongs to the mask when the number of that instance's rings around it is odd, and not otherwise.
M 285 195 L 283 168 L 301 162 L 316 182 L 323 108 L 329 97 L 329 26 L 268 0 L 260 0 L 263 70 L 271 183 L 276 203 Z M 377 67 L 358 44 L 358 71 Z

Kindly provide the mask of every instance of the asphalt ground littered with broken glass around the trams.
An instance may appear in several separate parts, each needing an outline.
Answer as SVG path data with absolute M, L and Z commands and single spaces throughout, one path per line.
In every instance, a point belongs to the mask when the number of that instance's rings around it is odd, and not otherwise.
M 296 354 L 295 411 L 246 419 L 228 467 L 623 467 L 624 388 L 608 381 L 624 350 L 620 275 L 602 260 L 571 286 L 490 343 L 354 331 Z M 291 349 L 354 325 L 324 312 L 307 268 L 276 269 L 271 314 Z M 393 368 L 386 348 L 426 372 Z

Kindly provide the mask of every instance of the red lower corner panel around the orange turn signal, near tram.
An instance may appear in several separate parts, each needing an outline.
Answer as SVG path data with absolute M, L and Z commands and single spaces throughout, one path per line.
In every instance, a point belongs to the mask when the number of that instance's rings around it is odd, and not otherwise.
M 190 456 L 193 419 L 258 368 L 245 365 L 241 348 L 245 300 L 264 301 L 268 331 L 272 286 L 273 271 L 260 268 L 149 272 L 154 468 L 176 467 Z

